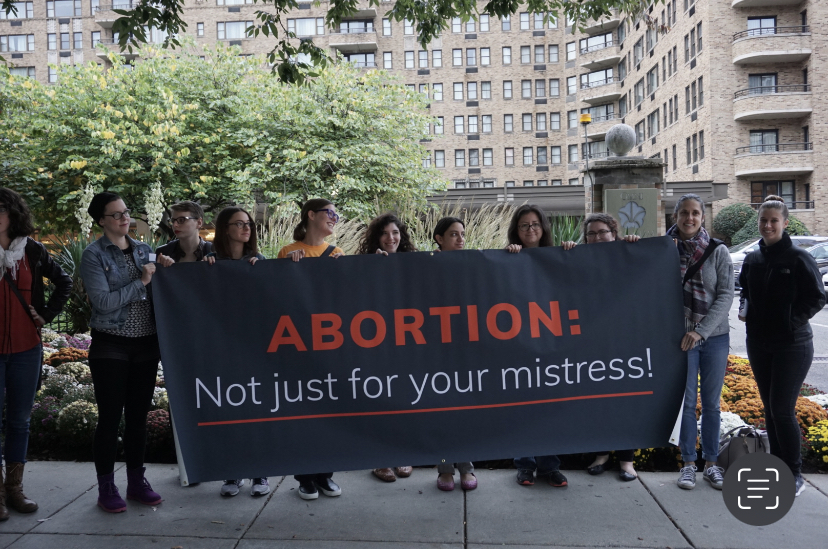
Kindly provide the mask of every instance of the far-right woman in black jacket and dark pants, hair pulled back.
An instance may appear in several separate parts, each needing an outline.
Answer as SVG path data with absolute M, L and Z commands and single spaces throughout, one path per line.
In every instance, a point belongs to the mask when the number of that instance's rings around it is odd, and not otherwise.
M 825 306 L 825 290 L 816 261 L 792 244 L 787 226 L 787 206 L 768 196 L 759 207 L 759 250 L 748 254 L 739 275 L 739 319 L 747 322 L 748 358 L 765 407 L 770 450 L 791 468 L 798 496 L 805 482 L 796 399 L 814 358 L 808 320 Z

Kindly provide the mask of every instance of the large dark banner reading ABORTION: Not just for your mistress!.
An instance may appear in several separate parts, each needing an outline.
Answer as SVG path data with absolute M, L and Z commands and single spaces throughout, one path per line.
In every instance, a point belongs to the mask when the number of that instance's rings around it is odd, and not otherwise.
M 153 279 L 190 482 L 667 444 L 667 238 L 222 261 Z

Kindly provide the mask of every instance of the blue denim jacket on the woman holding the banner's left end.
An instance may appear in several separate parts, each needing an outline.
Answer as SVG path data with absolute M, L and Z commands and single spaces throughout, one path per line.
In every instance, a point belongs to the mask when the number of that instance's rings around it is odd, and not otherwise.
M 143 242 L 132 244 L 132 257 L 138 269 L 150 262 L 152 250 Z M 83 285 L 92 304 L 89 326 L 97 330 L 120 330 L 126 324 L 133 301 L 152 299 L 149 286 L 140 279 L 130 280 L 124 253 L 106 235 L 90 244 L 81 259 Z

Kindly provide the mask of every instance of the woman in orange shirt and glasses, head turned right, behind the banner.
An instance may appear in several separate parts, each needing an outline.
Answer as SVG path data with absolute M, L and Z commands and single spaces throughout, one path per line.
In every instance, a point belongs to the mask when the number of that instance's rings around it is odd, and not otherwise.
M 277 254 L 277 258 L 290 258 L 294 262 L 303 257 L 341 257 L 342 250 L 325 242 L 333 234 L 339 221 L 336 206 L 330 200 L 314 198 L 305 202 L 299 214 L 299 224 L 293 229 L 295 242 L 288 244 Z M 299 497 L 305 500 L 317 499 L 319 492 L 328 497 L 342 494 L 342 488 L 333 481 L 333 473 L 294 475 L 299 482 Z

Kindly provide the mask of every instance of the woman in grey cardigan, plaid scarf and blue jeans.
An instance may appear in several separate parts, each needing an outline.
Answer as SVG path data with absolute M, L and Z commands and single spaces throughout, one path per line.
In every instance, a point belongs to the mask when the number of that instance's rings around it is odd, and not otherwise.
M 698 195 L 686 194 L 678 199 L 673 221 L 675 225 L 667 234 L 676 239 L 682 280 L 691 269 L 691 276 L 682 285 L 686 333 L 681 349 L 687 352 L 687 386 L 679 436 L 684 466 L 677 484 L 685 490 L 696 486 L 696 400 L 700 390 L 703 478 L 721 490 L 724 470 L 716 465 L 721 423 L 719 401 L 730 349 L 728 314 L 733 303 L 733 264 L 727 247 L 717 245 L 704 229 L 704 201 Z M 710 246 L 712 251 L 708 250 Z M 695 264 L 701 268 L 694 269 Z

